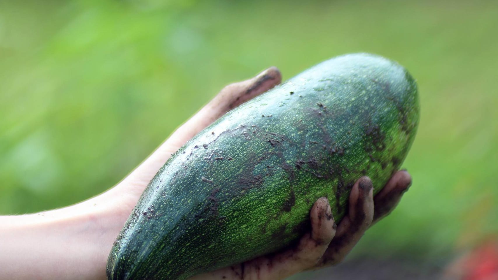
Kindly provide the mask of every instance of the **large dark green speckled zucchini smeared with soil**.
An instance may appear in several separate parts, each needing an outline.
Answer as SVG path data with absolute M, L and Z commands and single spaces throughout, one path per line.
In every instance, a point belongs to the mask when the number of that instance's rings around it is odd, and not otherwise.
M 111 280 L 183 280 L 279 250 L 326 196 L 336 221 L 363 175 L 375 192 L 418 122 L 404 68 L 352 54 L 325 61 L 233 109 L 149 183 L 108 261 Z

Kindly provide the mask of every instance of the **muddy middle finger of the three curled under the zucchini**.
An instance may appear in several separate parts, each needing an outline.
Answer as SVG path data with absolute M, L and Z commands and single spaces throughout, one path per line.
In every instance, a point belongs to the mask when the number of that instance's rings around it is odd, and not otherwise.
M 358 180 L 349 196 L 348 214 L 341 220 L 336 236 L 317 267 L 340 263 L 355 247 L 373 220 L 373 185 L 368 177 Z

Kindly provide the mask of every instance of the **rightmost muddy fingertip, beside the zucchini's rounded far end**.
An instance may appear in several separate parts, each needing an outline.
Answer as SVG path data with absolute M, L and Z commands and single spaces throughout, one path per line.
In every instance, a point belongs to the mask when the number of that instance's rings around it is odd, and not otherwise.
M 403 194 L 411 185 L 411 176 L 407 171 L 396 172 L 385 187 L 373 198 L 373 223 L 387 216 L 398 204 Z

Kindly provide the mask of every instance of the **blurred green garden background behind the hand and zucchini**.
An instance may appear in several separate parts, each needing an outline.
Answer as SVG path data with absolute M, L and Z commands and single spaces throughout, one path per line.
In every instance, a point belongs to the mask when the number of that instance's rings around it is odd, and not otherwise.
M 0 213 L 118 183 L 225 85 L 371 52 L 417 79 L 414 184 L 353 256 L 498 232 L 497 1 L 0 1 Z

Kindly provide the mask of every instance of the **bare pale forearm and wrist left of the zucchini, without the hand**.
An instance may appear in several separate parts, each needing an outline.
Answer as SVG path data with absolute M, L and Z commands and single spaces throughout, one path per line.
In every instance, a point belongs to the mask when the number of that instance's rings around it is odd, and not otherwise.
M 127 215 L 98 200 L 0 216 L 0 280 L 104 280 L 107 257 Z

